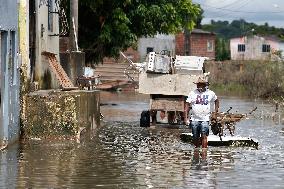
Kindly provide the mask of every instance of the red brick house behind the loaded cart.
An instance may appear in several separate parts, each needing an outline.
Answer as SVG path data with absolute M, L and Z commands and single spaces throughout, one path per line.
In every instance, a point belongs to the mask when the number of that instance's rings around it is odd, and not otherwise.
M 179 33 L 175 37 L 176 55 L 204 56 L 215 59 L 215 40 L 214 33 L 201 29 L 194 29 L 189 34 Z

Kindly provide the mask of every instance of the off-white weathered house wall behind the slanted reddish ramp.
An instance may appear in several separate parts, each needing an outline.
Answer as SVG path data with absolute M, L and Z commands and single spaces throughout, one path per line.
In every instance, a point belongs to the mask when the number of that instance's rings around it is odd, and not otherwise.
M 51 2 L 50 11 L 48 2 Z M 56 0 L 37 0 L 35 1 L 36 9 L 36 60 L 35 60 L 35 81 L 39 82 L 40 88 L 45 88 L 46 75 L 52 74 L 48 67 L 48 62 L 42 52 L 56 54 L 59 60 L 59 15 L 52 12 L 58 12 L 59 1 Z M 58 88 L 55 77 L 50 78 L 47 82 L 51 88 Z

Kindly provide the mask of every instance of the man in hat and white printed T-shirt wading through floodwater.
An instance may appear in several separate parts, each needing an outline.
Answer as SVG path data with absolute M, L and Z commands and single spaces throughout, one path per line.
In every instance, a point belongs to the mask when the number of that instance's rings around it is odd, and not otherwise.
M 214 102 L 215 112 L 219 109 L 219 100 L 216 94 L 208 89 L 208 82 L 199 77 L 194 82 L 197 88 L 188 95 L 185 105 L 185 121 L 188 122 L 188 112 L 190 110 L 190 122 L 192 126 L 193 143 L 195 147 L 207 148 L 207 136 L 209 135 L 209 120 L 211 103 Z

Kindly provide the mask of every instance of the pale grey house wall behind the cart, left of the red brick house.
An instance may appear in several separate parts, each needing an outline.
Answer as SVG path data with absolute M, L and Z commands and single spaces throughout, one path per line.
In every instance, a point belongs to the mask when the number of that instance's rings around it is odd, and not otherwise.
M 169 50 L 175 54 L 175 36 L 174 35 L 156 35 L 155 37 L 140 38 L 138 41 L 138 52 L 140 61 L 145 61 L 147 48 L 153 48 L 154 52 L 159 53 L 162 50 Z

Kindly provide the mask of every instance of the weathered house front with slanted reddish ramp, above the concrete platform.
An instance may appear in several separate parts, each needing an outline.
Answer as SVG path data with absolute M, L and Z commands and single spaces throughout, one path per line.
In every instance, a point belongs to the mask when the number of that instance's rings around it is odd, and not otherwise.
M 60 64 L 60 1 L 30 1 L 31 80 L 38 89 L 74 88 Z

